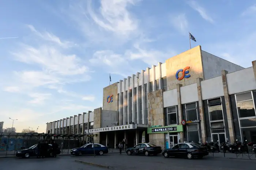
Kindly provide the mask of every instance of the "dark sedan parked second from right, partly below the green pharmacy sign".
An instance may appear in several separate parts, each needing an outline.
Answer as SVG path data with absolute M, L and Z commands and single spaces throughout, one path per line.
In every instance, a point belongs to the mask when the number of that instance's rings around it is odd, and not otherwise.
M 135 145 L 134 147 L 130 147 L 126 150 L 127 155 L 146 155 L 149 156 L 151 154 L 157 155 L 162 152 L 162 149 L 160 146 L 156 146 L 152 143 L 139 143 L 138 145 Z

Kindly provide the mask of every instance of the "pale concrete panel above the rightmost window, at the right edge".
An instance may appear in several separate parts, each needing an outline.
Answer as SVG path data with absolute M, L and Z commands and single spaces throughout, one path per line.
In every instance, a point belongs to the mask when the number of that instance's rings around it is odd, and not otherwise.
M 253 67 L 228 73 L 227 85 L 229 94 L 235 94 L 256 89 Z M 229 85 L 230 84 L 230 85 Z

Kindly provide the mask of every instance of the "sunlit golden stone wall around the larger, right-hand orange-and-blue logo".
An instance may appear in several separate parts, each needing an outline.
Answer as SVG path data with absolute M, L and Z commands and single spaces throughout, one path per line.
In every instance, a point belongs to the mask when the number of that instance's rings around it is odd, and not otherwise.
M 184 78 L 182 80 L 176 79 L 176 72 L 179 69 L 183 69 L 189 66 L 190 78 Z M 181 72 L 179 76 L 181 76 Z M 189 84 L 196 83 L 197 78 L 203 78 L 203 66 L 201 59 L 201 46 L 197 46 L 188 51 L 182 52 L 170 59 L 166 60 L 166 77 L 167 77 L 167 90 L 176 88 L 176 84 L 182 84 L 187 86 Z

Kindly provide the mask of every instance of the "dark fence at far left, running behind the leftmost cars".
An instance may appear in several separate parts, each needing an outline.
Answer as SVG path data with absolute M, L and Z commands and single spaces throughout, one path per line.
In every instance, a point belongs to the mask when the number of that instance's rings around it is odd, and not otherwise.
M 56 135 L 56 134 L 0 134 L 0 157 L 15 155 L 15 152 L 27 149 L 39 141 L 53 140 L 59 145 L 61 154 L 69 154 L 69 150 L 80 147 L 86 143 L 83 137 L 86 135 Z

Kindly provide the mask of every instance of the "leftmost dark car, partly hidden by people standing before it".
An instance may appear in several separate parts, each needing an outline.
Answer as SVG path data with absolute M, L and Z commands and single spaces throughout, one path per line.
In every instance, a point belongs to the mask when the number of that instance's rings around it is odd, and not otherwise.
M 48 157 L 53 157 L 52 145 L 51 144 L 48 144 L 48 145 L 49 145 Z M 22 158 L 37 157 L 38 156 L 37 153 L 38 153 L 38 148 L 37 148 L 37 144 L 36 144 L 36 145 L 29 147 L 28 149 L 16 151 L 16 157 L 22 157 Z M 58 147 L 56 154 L 57 155 L 60 154 L 60 147 Z

